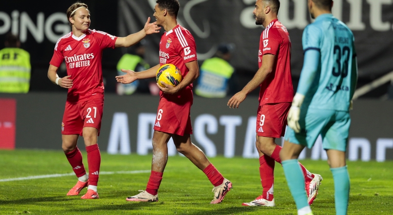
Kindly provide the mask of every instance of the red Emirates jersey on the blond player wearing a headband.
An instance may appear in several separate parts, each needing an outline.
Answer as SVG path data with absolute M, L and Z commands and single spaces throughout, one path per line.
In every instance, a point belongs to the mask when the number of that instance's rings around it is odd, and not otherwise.
M 57 41 L 49 64 L 60 67 L 66 60 L 67 75 L 71 75 L 73 81 L 68 89 L 67 102 L 104 98 L 102 50 L 114 49 L 116 39 L 111 34 L 89 29 L 80 37 L 70 32 Z

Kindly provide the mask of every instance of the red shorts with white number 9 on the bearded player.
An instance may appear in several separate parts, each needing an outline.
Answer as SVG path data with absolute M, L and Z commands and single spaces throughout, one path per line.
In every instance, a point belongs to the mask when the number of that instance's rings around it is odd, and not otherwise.
M 280 138 L 285 134 L 287 116 L 291 102 L 262 104 L 258 107 L 258 136 Z

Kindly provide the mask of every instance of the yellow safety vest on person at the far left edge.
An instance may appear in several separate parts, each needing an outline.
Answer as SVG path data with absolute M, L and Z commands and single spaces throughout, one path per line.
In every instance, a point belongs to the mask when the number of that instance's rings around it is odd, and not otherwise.
M 0 50 L 0 93 L 27 93 L 30 87 L 29 52 L 19 48 Z

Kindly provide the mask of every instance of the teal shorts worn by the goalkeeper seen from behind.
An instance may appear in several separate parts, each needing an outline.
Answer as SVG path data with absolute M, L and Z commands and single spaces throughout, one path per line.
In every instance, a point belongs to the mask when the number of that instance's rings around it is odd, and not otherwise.
M 318 135 L 322 135 L 322 147 L 346 151 L 351 117 L 349 112 L 319 109 L 302 109 L 299 120 L 301 131 L 288 127 L 284 139 L 311 149 Z

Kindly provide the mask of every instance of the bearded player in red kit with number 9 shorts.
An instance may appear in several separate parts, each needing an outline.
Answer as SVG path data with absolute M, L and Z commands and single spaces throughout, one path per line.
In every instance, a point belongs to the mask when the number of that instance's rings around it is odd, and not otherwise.
M 254 78 L 246 84 L 242 91 L 228 101 L 229 108 L 239 108 L 247 94 L 258 86 L 259 107 L 257 114 L 256 147 L 259 153 L 259 172 L 262 182 L 262 195 L 255 200 L 243 203 L 244 206 L 276 206 L 273 195 L 275 161 L 281 164 L 279 152 L 281 147 L 275 143 L 285 133 L 286 118 L 294 88 L 291 78 L 291 40 L 287 29 L 278 21 L 279 0 L 257 0 L 253 11 L 255 23 L 263 25 L 259 43 L 259 69 Z M 322 177 L 311 174 L 301 165 L 303 183 L 300 188 L 306 189 L 308 203 L 312 204 L 318 193 Z

